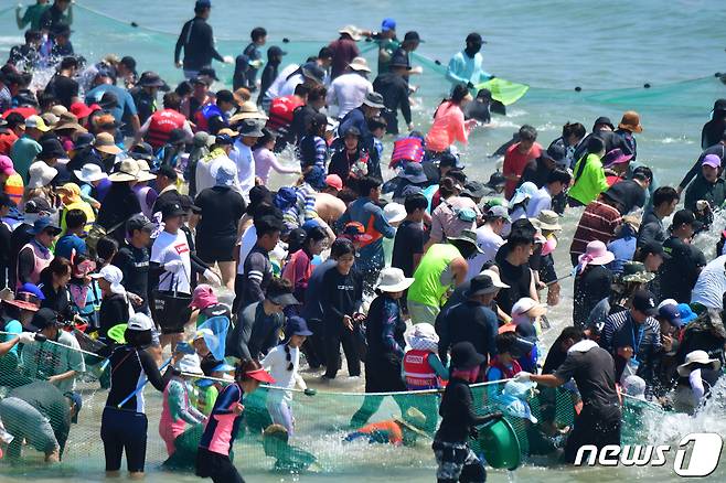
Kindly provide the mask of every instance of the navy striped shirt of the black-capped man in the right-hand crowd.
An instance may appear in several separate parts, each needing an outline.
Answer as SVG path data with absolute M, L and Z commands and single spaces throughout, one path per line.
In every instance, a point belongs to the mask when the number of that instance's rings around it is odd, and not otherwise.
M 634 357 L 638 361 L 650 362 L 655 351 L 661 348 L 661 326 L 655 319 L 649 316 L 643 323 L 641 334 L 631 311 L 623 310 L 606 319 L 600 346 L 612 354 L 616 354 L 618 348 L 630 346 L 637 352 Z

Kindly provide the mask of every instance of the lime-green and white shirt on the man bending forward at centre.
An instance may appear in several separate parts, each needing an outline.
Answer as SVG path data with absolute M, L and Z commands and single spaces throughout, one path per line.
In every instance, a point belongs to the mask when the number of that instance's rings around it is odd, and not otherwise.
M 426 251 L 414 272 L 414 283 L 408 288 L 408 300 L 428 307 L 440 307 L 441 299 L 450 283 L 441 283 L 441 275 L 455 258 L 460 258 L 459 249 L 449 244 L 436 244 Z

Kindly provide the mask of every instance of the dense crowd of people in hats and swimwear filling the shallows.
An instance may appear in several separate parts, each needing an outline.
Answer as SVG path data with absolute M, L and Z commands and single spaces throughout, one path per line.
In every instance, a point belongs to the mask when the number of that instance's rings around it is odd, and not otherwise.
M 474 88 L 492 77 L 478 33 L 448 65 L 450 96 L 417 130 L 417 32 L 399 41 L 393 19 L 381 32 L 348 25 L 306 63 L 286 65 L 279 46 L 264 61 L 263 28 L 236 58 L 222 56 L 211 11 L 197 0 L 183 25 L 173 55 L 185 80 L 174 88 L 154 72 L 139 75 L 130 56 L 77 56 L 70 0 L 38 0 L 18 14 L 18 26 L 30 26 L 25 43 L 0 69 L 9 454 L 24 440 L 49 462 L 62 457 L 83 406 L 77 379 L 105 357 L 109 475 L 124 451 L 129 472 L 143 474 L 139 382 L 148 380 L 163 391 L 169 465 L 195 461 L 202 477 L 243 481 L 229 451 L 245 399 L 261 383 L 284 389 L 267 395 L 275 429 L 266 434 L 293 438 L 292 389 L 314 393 L 303 364 L 324 368 L 317 382 L 329 384 L 341 348 L 350 378 L 364 364 L 366 393 L 446 385 L 440 408 L 434 397 L 433 407 L 399 404 L 403 422 L 366 427 L 378 396 L 351 420 L 353 439 L 383 431 L 405 443 L 412 425 L 431 436 L 439 482 L 485 479 L 467 441 L 502 414 L 478 416 L 473 383 L 569 387 L 581 402 L 564 446 L 569 462 L 584 444 L 619 443 L 621 391 L 690 414 L 705 404 L 724 363 L 726 235 L 711 261 L 693 240 L 726 201 L 725 99 L 676 187 L 658 186 L 638 159 L 643 127 L 632 110 L 617 127 L 596 119 L 589 133 L 567 122 L 546 149 L 522 126 L 502 149 L 502 171 L 482 182 L 457 149 L 491 114 L 491 93 Z M 373 80 L 362 36 L 378 44 Z M 213 89 L 213 61 L 235 64 L 233 90 Z M 54 75 L 32 89 L 49 66 Z M 278 160 L 282 152 L 298 162 Z M 297 181 L 270 190 L 271 171 Z M 385 172 L 395 176 L 384 182 Z M 558 275 L 565 212 L 581 215 L 573 272 Z M 545 348 L 547 308 L 570 276 L 572 323 Z M 97 361 L 84 358 L 79 337 L 103 347 Z M 203 434 L 186 454 L 181 441 L 196 425 Z M 553 416 L 541 432 L 560 430 Z

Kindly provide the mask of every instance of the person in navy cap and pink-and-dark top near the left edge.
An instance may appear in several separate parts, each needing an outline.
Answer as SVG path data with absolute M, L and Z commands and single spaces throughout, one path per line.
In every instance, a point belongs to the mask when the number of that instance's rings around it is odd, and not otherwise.
M 41 271 L 53 259 L 51 246 L 55 237 L 61 234 L 61 227 L 49 216 L 42 216 L 35 221 L 30 233 L 33 238 L 18 253 L 18 286 L 40 281 Z

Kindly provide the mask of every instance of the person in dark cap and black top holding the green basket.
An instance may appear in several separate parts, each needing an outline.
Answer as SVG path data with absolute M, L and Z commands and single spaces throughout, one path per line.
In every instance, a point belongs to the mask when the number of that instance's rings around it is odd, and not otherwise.
M 470 342 L 459 342 L 451 348 L 451 376 L 439 408 L 441 426 L 431 444 L 439 483 L 487 481 L 484 465 L 467 443 L 477 433 L 477 426 L 502 417 L 501 412 L 477 416 L 474 411 L 469 385 L 477 380 L 485 361 Z

